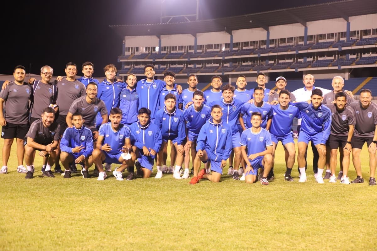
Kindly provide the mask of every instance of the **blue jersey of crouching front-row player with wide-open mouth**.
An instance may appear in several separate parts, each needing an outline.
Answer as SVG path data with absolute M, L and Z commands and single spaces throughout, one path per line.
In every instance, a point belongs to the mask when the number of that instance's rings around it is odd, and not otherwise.
M 124 146 L 124 139 L 131 137 L 131 131 L 126 125 L 120 124 L 118 131 L 114 132 L 111 122 L 107 122 L 101 125 L 98 135 L 104 138 L 102 145 L 109 144 L 112 148 L 108 154 L 117 155 Z

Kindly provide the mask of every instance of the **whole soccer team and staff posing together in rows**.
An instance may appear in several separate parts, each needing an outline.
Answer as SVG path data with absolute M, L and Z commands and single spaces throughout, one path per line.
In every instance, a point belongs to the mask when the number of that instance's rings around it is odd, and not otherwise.
M 40 81 L 31 78 L 25 82 L 25 67 L 15 67 L 14 81 L 6 81 L 0 92 L 4 139 L 0 173 L 8 172 L 15 138 L 17 171 L 26 173 L 27 179 L 33 178 L 38 150 L 45 177 L 54 177 L 51 169 L 55 164 L 55 174 L 70 178 L 81 164 L 82 176 L 89 178 L 88 170 L 94 164 L 93 176 L 104 180 L 111 164 L 116 164 L 112 172 L 116 180 L 123 180 L 125 170 L 126 180 L 149 178 L 156 163 L 155 178 L 172 173 L 175 179 L 187 179 L 193 173 L 190 184 L 202 178 L 219 182 L 229 159 L 228 175 L 234 180 L 260 180 L 268 185 L 274 179 L 274 155 L 281 141 L 284 178 L 294 181 L 292 125 L 297 118 L 299 182 L 307 181 L 306 154 L 311 142 L 317 183 L 324 179 L 363 183 L 360 152 L 366 142 L 369 185 L 376 185 L 377 106 L 368 89 L 361 90 L 360 101 L 355 102 L 352 93 L 343 90 L 340 76 L 333 78 L 333 90 L 327 90 L 314 86 L 313 75 L 305 75 L 304 87 L 292 93 L 285 90 L 287 80 L 281 76 L 276 79 L 276 91 L 265 88 L 264 73 L 258 73 L 257 87 L 252 90 L 246 89 L 244 75 L 238 76 L 237 88 L 222 85 L 221 76 L 213 76 L 212 89 L 203 93 L 196 88 L 195 75 L 187 80 L 189 88 L 182 90 L 171 71 L 165 72 L 164 81 L 156 80 L 151 64 L 145 65 L 146 78 L 138 82 L 134 74 L 129 74 L 126 82 L 116 79 L 116 71 L 114 65 L 106 65 L 106 78 L 100 83 L 92 78 L 91 62 L 82 65 L 81 78 L 76 78 L 77 65 L 68 63 L 66 77 L 58 76 L 52 82 L 53 69 L 46 65 L 41 68 Z M 169 142 L 171 165 L 167 166 Z M 340 172 L 336 176 L 338 149 Z M 351 154 L 357 177 L 350 182 Z

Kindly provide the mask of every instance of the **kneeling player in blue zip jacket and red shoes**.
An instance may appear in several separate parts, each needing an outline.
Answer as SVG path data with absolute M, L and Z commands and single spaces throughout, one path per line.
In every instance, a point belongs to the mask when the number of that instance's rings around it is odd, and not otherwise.
M 219 182 L 222 169 L 226 166 L 232 149 L 232 129 L 222 120 L 222 107 L 213 105 L 211 116 L 212 118 L 200 129 L 196 141 L 197 153 L 193 161 L 194 176 L 190 181 L 192 185 L 202 178 Z M 199 172 L 201 163 L 207 163 L 208 160 L 211 161 L 211 174 L 207 174 L 205 169 Z

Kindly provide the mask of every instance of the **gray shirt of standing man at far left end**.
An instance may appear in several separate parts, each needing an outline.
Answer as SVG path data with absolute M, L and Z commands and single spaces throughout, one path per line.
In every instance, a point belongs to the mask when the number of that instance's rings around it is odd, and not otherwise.
M 29 99 L 33 99 L 33 88 L 28 83 L 17 85 L 12 81 L 0 92 L 0 97 L 5 100 L 6 122 L 17 125 L 29 123 Z

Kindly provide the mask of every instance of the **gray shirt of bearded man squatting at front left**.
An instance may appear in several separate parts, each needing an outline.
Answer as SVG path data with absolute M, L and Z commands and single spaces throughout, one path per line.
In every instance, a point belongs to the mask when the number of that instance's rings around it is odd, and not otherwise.
M 60 125 L 54 121 L 50 127 L 44 127 L 42 119 L 37 119 L 31 123 L 26 137 L 46 146 L 60 139 Z

